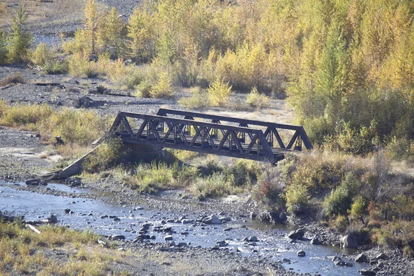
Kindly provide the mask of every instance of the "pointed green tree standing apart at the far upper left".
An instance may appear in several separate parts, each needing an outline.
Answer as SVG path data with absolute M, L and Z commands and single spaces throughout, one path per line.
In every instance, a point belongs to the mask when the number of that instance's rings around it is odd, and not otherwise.
M 12 63 L 21 63 L 28 58 L 32 46 L 32 34 L 26 28 L 28 14 L 25 6 L 20 6 L 12 20 L 12 32 L 8 37 L 8 59 Z

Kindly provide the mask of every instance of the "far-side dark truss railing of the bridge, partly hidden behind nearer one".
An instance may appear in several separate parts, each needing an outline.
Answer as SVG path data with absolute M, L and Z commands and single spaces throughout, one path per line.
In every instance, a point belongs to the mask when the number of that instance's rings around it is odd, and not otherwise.
M 167 108 L 160 108 L 157 112 L 159 116 L 168 117 L 168 115 L 178 115 L 184 116 L 184 119 L 197 120 L 197 119 L 209 119 L 213 124 L 223 124 L 222 122 L 237 123 L 238 126 L 244 128 L 257 128 L 257 127 L 266 127 L 264 131 L 264 136 L 266 141 L 271 148 L 280 148 L 286 150 L 302 150 L 302 143 L 306 149 L 313 149 L 311 140 L 309 140 L 308 135 L 304 130 L 303 126 L 295 126 L 290 124 L 277 124 L 267 121 L 255 121 L 249 119 L 239 119 L 234 117 L 210 115 L 205 113 L 190 112 L 184 110 L 173 110 Z M 293 135 L 290 137 L 288 144 L 285 145 L 282 137 L 279 134 L 279 130 L 294 130 Z M 241 136 L 241 135 L 238 135 Z

